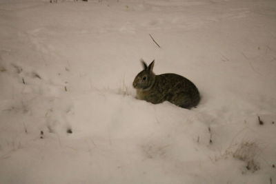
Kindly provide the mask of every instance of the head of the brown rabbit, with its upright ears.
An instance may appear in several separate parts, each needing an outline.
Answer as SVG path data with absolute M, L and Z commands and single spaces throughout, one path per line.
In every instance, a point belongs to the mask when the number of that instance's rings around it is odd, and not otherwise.
M 147 65 L 145 61 L 141 59 L 141 63 L 144 67 L 144 70 L 137 74 L 132 85 L 137 90 L 150 89 L 155 83 L 155 74 L 152 72 L 153 66 L 155 65 L 155 60 L 153 60 L 150 65 Z

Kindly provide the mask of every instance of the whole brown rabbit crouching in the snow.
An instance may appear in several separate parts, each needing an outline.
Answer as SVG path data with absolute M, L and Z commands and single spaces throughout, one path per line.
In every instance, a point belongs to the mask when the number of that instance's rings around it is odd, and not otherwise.
M 144 70 L 135 77 L 132 85 L 136 89 L 136 99 L 153 104 L 169 101 L 181 108 L 196 108 L 200 101 L 199 90 L 193 82 L 178 74 L 152 72 L 155 60 L 147 65 L 140 60 Z

